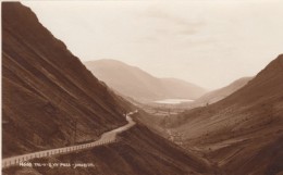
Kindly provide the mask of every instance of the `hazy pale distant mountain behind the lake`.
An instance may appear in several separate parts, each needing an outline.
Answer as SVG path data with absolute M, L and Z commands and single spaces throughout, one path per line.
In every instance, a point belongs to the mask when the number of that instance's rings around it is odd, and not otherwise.
M 139 101 L 196 99 L 206 92 L 194 84 L 175 78 L 157 78 L 115 60 L 89 61 L 85 65 L 118 92 Z

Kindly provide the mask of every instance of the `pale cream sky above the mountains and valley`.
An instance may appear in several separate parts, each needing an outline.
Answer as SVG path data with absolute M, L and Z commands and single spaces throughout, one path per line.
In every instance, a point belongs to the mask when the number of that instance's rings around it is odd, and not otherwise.
M 283 1 L 22 1 L 82 62 L 113 59 L 208 90 L 283 53 Z

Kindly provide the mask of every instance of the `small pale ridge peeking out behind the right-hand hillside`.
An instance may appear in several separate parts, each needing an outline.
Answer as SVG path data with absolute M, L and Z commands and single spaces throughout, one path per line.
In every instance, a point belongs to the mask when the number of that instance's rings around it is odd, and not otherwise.
M 253 77 L 239 78 L 229 86 L 205 93 L 204 96 L 192 102 L 189 105 L 196 108 L 218 102 L 244 87 L 246 84 L 248 84 L 250 79 L 253 79 Z

